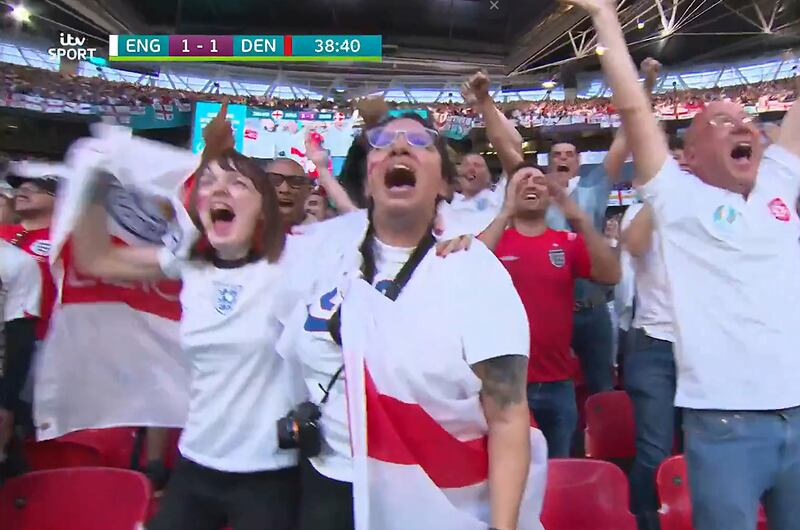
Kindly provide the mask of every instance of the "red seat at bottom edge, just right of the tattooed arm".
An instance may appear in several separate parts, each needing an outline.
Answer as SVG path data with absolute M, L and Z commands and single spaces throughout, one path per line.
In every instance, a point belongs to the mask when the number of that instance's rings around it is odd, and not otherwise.
M 542 525 L 547 530 L 636 530 L 625 474 L 609 462 L 550 460 Z

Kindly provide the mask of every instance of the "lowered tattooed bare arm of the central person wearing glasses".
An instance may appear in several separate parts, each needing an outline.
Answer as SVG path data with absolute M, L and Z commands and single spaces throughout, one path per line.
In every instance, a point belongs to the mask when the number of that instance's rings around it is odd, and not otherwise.
M 491 527 L 516 530 L 530 467 L 530 411 L 525 398 L 528 358 L 505 355 L 473 366 L 489 426 Z

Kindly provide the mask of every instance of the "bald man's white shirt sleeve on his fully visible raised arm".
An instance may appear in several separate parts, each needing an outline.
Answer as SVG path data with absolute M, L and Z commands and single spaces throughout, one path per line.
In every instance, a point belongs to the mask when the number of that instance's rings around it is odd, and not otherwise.
M 658 174 L 637 190 L 642 199 L 653 207 L 658 224 L 666 226 L 692 214 L 693 199 L 706 186 L 696 176 L 683 171 L 672 157 L 668 157 Z

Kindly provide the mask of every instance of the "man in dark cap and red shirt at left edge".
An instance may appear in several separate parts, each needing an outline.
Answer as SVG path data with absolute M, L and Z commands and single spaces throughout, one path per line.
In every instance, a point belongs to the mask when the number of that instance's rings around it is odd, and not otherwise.
M 44 339 L 56 299 L 56 288 L 50 273 L 50 222 L 53 218 L 57 175 L 23 177 L 10 174 L 6 181 L 14 188 L 14 212 L 19 224 L 0 225 L 0 239 L 21 248 L 34 257 L 42 273 L 41 318 L 36 338 Z

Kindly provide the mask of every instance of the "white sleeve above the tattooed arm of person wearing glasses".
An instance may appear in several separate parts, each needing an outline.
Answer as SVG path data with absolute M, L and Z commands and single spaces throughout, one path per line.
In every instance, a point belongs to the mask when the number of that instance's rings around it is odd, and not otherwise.
M 450 297 L 461 328 L 468 364 L 530 353 L 530 329 L 525 308 L 508 272 L 480 241 L 445 259 L 461 261 L 456 292 Z

